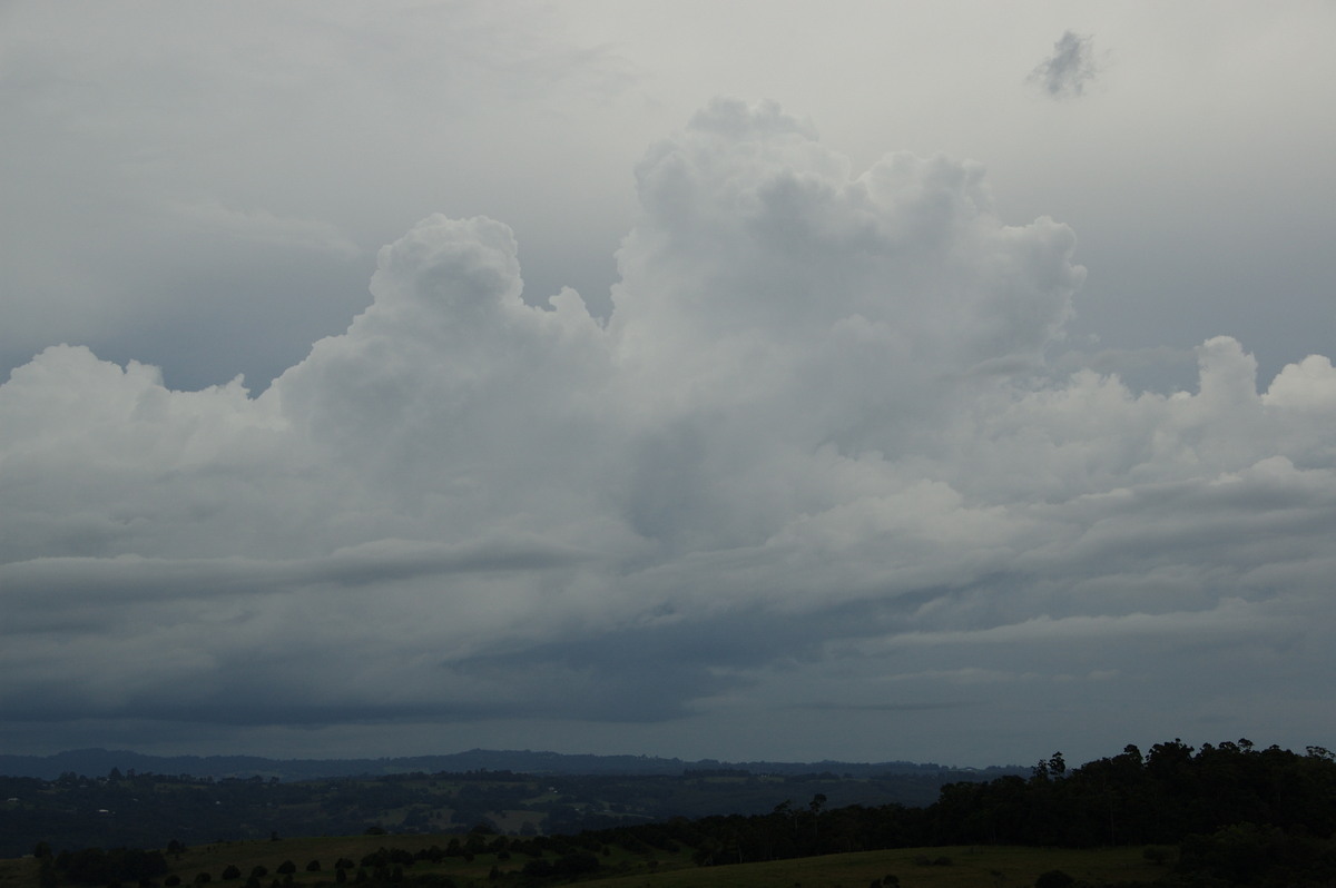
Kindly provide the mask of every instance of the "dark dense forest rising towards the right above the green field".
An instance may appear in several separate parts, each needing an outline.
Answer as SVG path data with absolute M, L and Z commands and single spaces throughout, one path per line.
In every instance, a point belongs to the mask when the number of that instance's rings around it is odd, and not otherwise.
M 1162 742 L 1069 769 L 1061 754 L 1030 777 L 942 788 L 925 808 L 827 809 L 816 796 L 767 816 L 707 817 L 669 829 L 703 863 L 800 857 L 892 847 L 969 844 L 1181 845 L 1189 863 L 1224 848 L 1277 860 L 1312 859 L 1319 883 L 1336 879 L 1336 756 L 1297 754 L 1249 741 L 1193 749 Z M 1241 883 L 1234 883 L 1241 884 Z

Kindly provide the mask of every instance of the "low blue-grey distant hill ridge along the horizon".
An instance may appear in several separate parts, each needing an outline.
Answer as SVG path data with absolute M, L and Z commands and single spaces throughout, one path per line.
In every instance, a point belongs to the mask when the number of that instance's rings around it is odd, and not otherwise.
M 55 780 L 63 773 L 100 777 L 112 769 L 156 774 L 190 774 L 191 777 L 278 777 L 279 780 L 317 780 L 322 777 L 355 777 L 398 773 L 465 773 L 469 770 L 513 770 L 529 774 L 665 774 L 680 776 L 691 770 L 737 770 L 755 774 L 808 774 L 828 772 L 839 776 L 872 777 L 878 774 L 937 773 L 965 770 L 979 779 L 1015 773 L 1015 766 L 981 770 L 955 769 L 933 762 L 911 761 L 741 761 L 723 762 L 713 758 L 683 761 L 655 756 L 593 756 L 557 752 L 470 749 L 445 756 L 410 756 L 399 758 L 263 758 L 259 756 L 147 756 L 124 749 L 75 749 L 53 756 L 3 756 L 0 774 Z

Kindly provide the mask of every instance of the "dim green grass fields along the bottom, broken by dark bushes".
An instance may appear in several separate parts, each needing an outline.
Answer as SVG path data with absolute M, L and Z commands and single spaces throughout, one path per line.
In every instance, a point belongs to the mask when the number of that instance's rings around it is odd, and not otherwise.
M 354 861 L 381 847 L 417 851 L 433 844 L 444 845 L 448 836 L 338 836 L 285 839 L 279 841 L 218 843 L 190 848 L 179 857 L 168 857 L 171 873 L 183 887 L 194 888 L 198 873 L 210 875 L 211 888 L 239 888 L 250 871 L 262 865 L 269 876 L 286 860 L 297 865 L 294 885 L 333 883 L 334 861 Z M 847 855 L 827 855 L 796 860 L 775 860 L 724 867 L 696 867 L 689 849 L 680 855 L 657 853 L 649 859 L 611 848 L 600 855 L 603 873 L 580 884 L 597 883 L 599 888 L 866 888 L 874 880 L 894 875 L 902 888 L 1029 888 L 1050 869 L 1061 869 L 1082 881 L 1128 883 L 1153 881 L 1165 875 L 1164 867 L 1149 864 L 1136 848 L 1096 848 L 1067 851 L 1055 848 L 955 847 L 900 848 Z M 925 864 L 927 860 L 950 863 Z M 311 860 L 321 863 L 321 872 L 307 872 Z M 529 857 L 514 855 L 500 860 L 496 855 L 478 855 L 473 861 L 452 857 L 440 865 L 422 861 L 406 875 L 444 873 L 461 888 L 476 884 L 516 884 L 512 880 L 489 881 L 493 867 L 501 875 L 518 873 Z M 918 863 L 916 863 L 918 861 Z M 223 881 L 228 865 L 242 871 L 242 879 Z M 351 875 L 351 873 L 349 873 Z M 156 880 L 162 884 L 162 880 Z M 37 867 L 32 859 L 0 861 L 0 888 L 27 888 L 37 884 Z M 351 885 L 351 880 L 349 881 Z

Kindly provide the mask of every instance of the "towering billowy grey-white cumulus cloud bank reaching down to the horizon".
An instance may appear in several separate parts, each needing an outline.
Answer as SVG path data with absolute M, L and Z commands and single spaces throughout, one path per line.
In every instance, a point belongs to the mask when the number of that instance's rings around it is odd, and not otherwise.
M 636 178 L 607 320 L 522 300 L 506 226 L 437 215 L 259 397 L 69 346 L 15 370 L 12 736 L 625 749 L 655 724 L 695 753 L 929 757 L 981 724 L 999 749 L 1333 726 L 1305 706 L 1328 359 L 1261 394 L 1225 337 L 1192 393 L 1054 378 L 1070 230 L 1005 224 L 975 164 L 852 175 L 775 105 L 715 101 Z

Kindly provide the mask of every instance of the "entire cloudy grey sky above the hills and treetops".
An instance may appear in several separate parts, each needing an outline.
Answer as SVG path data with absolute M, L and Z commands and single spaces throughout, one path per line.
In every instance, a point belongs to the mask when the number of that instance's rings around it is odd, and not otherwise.
M 1332 33 L 0 4 L 0 748 L 1336 748 Z

